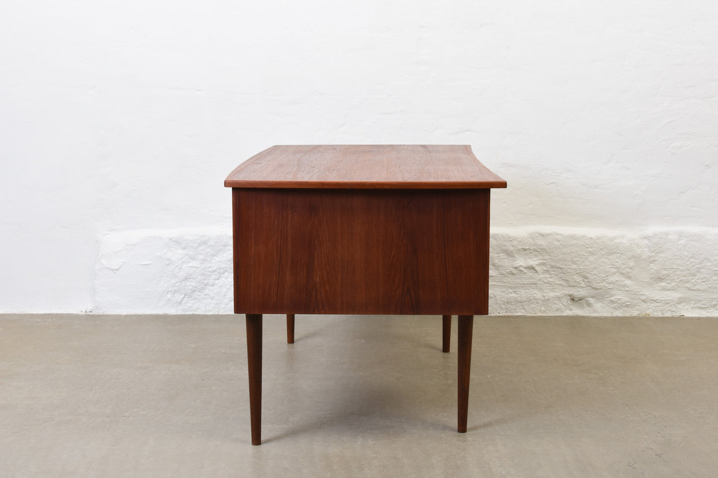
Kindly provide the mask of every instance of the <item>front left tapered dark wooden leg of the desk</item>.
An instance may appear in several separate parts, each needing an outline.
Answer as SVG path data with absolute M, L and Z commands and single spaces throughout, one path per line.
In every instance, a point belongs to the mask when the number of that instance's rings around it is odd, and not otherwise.
M 246 314 L 252 444 L 262 442 L 262 314 Z

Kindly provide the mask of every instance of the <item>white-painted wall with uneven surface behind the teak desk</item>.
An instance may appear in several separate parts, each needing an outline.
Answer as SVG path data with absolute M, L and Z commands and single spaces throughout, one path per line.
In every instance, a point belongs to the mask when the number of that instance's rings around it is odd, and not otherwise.
M 712 0 L 4 0 L 0 135 L 0 311 L 229 312 L 239 162 L 434 143 L 495 313 L 718 315 Z

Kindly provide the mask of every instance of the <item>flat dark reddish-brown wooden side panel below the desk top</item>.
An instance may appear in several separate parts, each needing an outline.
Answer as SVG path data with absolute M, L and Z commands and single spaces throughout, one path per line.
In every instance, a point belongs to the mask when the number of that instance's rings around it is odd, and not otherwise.
M 233 189 L 235 311 L 488 314 L 489 189 Z

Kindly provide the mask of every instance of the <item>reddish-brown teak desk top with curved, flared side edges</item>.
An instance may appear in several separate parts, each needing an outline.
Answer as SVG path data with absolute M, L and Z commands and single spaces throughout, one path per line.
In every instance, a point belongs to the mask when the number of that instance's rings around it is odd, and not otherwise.
M 225 187 L 488 189 L 506 182 L 467 145 L 323 145 L 272 146 L 236 167 Z

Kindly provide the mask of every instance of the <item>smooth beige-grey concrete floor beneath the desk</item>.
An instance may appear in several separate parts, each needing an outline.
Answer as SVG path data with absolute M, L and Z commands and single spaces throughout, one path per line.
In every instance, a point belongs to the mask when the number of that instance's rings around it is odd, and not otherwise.
M 264 318 L 261 446 L 241 316 L 0 316 L 3 477 L 712 477 L 718 319 Z

